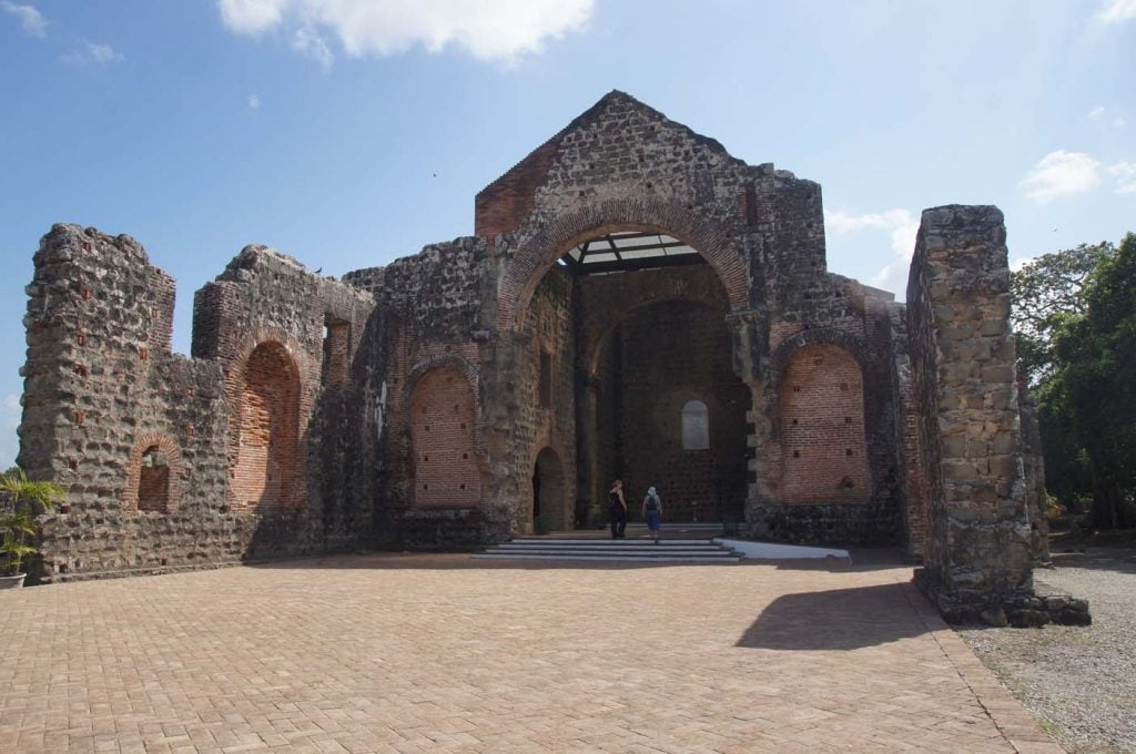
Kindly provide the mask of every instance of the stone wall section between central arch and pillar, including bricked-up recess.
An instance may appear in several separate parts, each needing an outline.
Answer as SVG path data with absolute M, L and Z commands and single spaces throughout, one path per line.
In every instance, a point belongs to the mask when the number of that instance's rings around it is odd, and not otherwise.
M 746 530 L 779 542 L 896 544 L 905 501 L 889 366 L 892 296 L 837 275 L 816 277 L 787 296 L 769 328 L 760 410 L 751 413 Z

